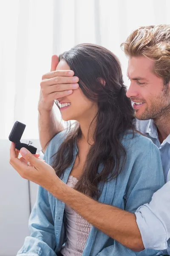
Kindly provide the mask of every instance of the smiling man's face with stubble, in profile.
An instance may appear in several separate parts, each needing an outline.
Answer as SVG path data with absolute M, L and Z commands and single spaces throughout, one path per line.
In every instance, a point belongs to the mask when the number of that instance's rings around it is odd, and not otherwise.
M 136 118 L 140 120 L 158 119 L 170 111 L 170 83 L 153 73 L 154 61 L 144 56 L 131 57 L 128 62 L 127 76 L 130 87 L 127 97 L 134 102 Z

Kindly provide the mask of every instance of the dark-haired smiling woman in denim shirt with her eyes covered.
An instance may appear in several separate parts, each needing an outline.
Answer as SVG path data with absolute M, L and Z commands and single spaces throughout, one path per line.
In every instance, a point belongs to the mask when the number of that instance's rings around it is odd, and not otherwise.
M 164 184 L 164 176 L 158 148 L 135 130 L 118 59 L 104 47 L 80 44 L 59 56 L 57 69 L 71 69 L 79 77 L 79 88 L 57 102 L 62 119 L 77 123 L 53 137 L 44 160 L 68 186 L 135 212 Z M 137 254 L 55 198 L 49 185 L 54 175 L 49 176 L 26 177 L 41 186 L 30 216 L 31 236 L 18 255 Z

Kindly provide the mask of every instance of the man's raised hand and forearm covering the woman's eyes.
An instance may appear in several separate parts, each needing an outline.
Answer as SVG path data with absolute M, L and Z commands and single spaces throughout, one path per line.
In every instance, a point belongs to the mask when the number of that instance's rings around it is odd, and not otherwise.
M 63 130 L 53 110 L 54 100 L 70 95 L 79 87 L 79 79 L 74 76 L 74 72 L 72 70 L 56 70 L 58 63 L 58 56 L 53 55 L 51 71 L 42 76 L 40 83 L 38 129 L 43 153 L 52 137 Z

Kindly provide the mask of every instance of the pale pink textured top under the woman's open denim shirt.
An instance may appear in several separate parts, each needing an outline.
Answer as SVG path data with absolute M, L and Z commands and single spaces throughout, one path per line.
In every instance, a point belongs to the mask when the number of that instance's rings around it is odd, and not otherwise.
M 74 188 L 77 178 L 68 177 L 67 185 Z M 77 212 L 65 204 L 66 223 L 66 242 L 61 253 L 64 256 L 82 256 L 85 243 L 91 230 L 91 224 L 82 218 Z

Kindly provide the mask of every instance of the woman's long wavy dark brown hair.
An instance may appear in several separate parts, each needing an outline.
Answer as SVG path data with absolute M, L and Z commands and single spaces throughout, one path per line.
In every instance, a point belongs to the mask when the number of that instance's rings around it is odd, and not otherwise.
M 121 138 L 128 130 L 134 132 L 133 107 L 126 96 L 119 60 L 108 49 L 93 44 L 79 44 L 60 55 L 61 59 L 79 77 L 79 87 L 85 96 L 98 105 L 94 144 L 90 147 L 75 189 L 99 198 L 101 191 L 98 184 L 116 178 L 125 164 L 126 152 Z M 53 162 L 59 177 L 71 165 L 75 143 L 80 137 L 78 124 L 60 145 Z M 100 173 L 99 165 L 103 166 Z

